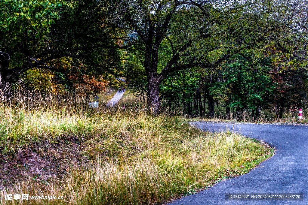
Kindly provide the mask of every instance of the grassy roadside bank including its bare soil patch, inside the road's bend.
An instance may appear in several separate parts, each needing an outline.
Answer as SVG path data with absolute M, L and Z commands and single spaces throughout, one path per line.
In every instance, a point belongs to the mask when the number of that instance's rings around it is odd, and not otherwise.
M 0 110 L 1 195 L 25 204 L 156 204 L 245 173 L 273 150 L 179 116 L 22 106 Z M 5 201 L 15 203 L 15 201 Z

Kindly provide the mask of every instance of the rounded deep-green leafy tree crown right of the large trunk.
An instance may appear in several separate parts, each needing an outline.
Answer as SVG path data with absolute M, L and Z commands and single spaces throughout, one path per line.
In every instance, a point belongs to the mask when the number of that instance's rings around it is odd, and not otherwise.
M 268 99 L 277 83 L 262 70 L 268 66 L 266 63 L 259 65 L 259 69 L 243 57 L 233 59 L 221 67 L 222 79 L 209 87 L 209 91 L 215 99 L 228 102 L 229 107 L 254 109 Z

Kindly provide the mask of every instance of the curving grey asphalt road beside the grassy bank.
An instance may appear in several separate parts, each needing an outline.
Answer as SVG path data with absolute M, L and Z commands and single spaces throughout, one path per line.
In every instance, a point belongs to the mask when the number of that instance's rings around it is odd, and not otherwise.
M 226 128 L 264 140 L 276 154 L 248 174 L 217 183 L 208 190 L 177 199 L 177 204 L 308 204 L 308 126 L 213 124 L 194 122 L 203 130 Z M 226 201 L 225 193 L 304 193 L 304 201 Z

